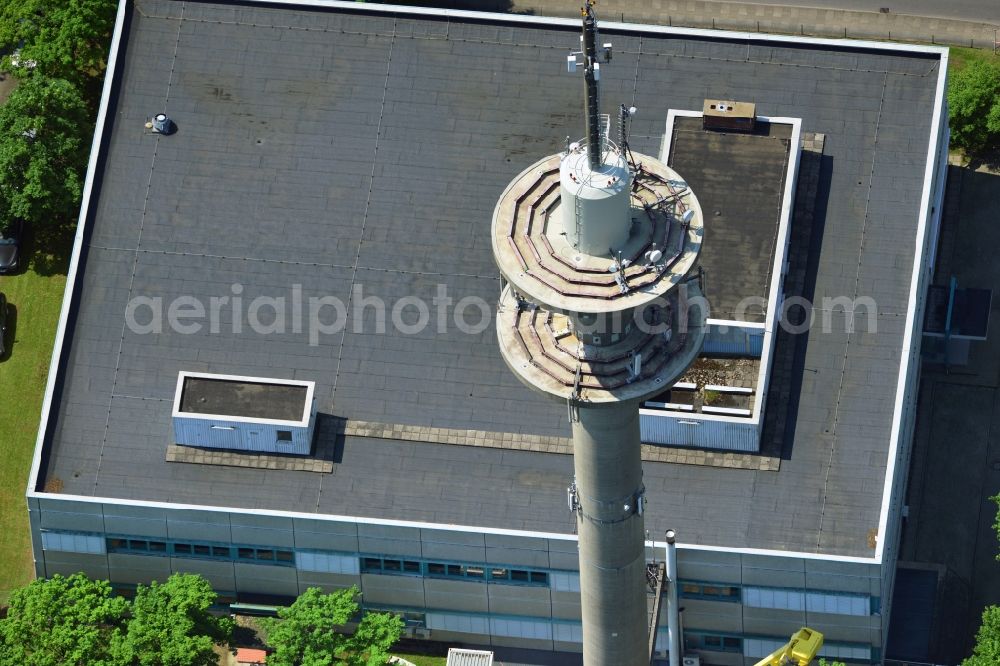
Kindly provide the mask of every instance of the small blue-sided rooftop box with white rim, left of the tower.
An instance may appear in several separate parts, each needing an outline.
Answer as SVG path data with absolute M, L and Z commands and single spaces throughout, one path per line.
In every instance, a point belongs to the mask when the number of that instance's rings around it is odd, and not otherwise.
M 308 454 L 315 383 L 181 372 L 174 441 L 185 446 Z

